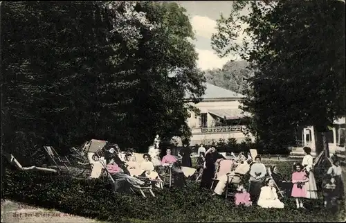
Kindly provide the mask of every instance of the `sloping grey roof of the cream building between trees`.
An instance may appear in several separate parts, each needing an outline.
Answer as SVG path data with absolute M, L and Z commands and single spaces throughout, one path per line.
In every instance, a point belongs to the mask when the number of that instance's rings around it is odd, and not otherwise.
M 228 89 L 224 89 L 222 87 L 217 87 L 214 84 L 206 83 L 206 91 L 204 95 L 201 97 L 203 99 L 217 99 L 217 98 L 244 98 L 240 93 L 235 93 L 234 91 L 230 91 Z M 188 96 L 185 96 L 188 98 Z

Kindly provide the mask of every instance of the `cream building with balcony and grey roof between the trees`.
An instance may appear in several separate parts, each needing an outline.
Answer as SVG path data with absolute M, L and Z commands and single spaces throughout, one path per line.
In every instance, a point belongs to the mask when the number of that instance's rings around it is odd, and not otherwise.
M 227 141 L 234 138 L 237 142 L 246 139 L 244 134 L 244 112 L 239 109 L 243 95 L 233 91 L 206 84 L 203 100 L 194 104 L 200 114 L 190 112 L 187 123 L 192 131 L 190 145 L 203 143 L 210 145 L 219 139 Z

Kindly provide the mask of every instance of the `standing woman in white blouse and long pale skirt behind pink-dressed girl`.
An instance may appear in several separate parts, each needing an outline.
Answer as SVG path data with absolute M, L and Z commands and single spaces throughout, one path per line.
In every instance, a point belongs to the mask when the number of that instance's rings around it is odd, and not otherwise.
M 304 184 L 304 188 L 307 191 L 307 199 L 317 199 L 317 186 L 315 181 L 315 175 L 313 175 L 313 158 L 311 156 L 311 148 L 304 147 L 305 156 L 302 160 L 302 166 L 304 167 L 307 176 L 309 177 L 309 183 Z

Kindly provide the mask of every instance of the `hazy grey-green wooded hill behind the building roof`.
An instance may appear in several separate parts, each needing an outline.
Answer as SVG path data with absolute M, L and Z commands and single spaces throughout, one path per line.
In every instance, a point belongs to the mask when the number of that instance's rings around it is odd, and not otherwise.
M 222 69 L 208 69 L 205 76 L 210 84 L 244 94 L 244 89 L 249 86 L 246 79 L 253 75 L 247 66 L 249 63 L 246 61 L 229 61 Z

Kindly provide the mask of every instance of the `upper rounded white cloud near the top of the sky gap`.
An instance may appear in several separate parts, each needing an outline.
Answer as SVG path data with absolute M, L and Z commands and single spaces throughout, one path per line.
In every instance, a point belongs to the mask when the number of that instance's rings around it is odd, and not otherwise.
M 191 19 L 191 25 L 197 36 L 210 39 L 213 33 L 216 33 L 217 22 L 209 17 L 194 15 Z

